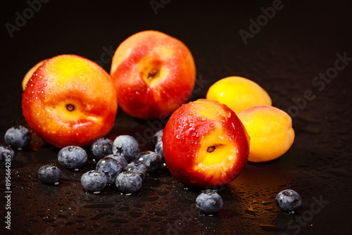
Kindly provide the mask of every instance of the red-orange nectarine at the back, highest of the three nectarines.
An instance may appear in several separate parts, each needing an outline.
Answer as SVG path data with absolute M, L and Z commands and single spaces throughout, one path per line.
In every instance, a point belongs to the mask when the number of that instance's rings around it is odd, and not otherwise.
M 158 119 L 189 99 L 196 66 L 180 40 L 147 30 L 133 34 L 118 46 L 111 78 L 125 113 L 134 118 Z

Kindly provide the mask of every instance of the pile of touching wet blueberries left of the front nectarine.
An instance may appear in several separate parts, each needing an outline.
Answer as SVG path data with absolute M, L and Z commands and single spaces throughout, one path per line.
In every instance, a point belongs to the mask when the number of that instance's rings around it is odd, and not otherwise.
M 92 155 L 100 160 L 95 170 L 81 177 L 85 191 L 99 192 L 106 185 L 115 184 L 121 193 L 136 193 L 147 174 L 161 167 L 161 156 L 153 151 L 140 153 L 138 142 L 132 136 L 117 136 L 111 148 L 110 144 L 107 139 L 99 139 L 92 144 Z

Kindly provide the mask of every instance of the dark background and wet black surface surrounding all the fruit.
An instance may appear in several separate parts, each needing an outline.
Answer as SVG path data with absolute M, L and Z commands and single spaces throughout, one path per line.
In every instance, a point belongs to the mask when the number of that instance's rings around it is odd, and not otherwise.
M 94 169 L 91 159 L 78 172 L 63 170 L 59 186 L 43 185 L 37 170 L 58 163 L 58 149 L 32 143 L 15 151 L 11 231 L 4 229 L 4 196 L 1 230 L 6 234 L 349 234 L 352 61 L 324 87 L 312 82 L 320 73 L 332 71 L 337 54 L 352 58 L 351 4 L 282 1 L 275 16 L 244 44 L 239 31 L 250 32 L 249 20 L 256 21 L 263 15 L 260 8 L 273 2 L 172 0 L 163 1 L 155 12 L 151 1 L 48 1 L 37 5 L 33 15 L 26 10 L 27 1 L 2 3 L 1 142 L 9 127 L 27 126 L 21 82 L 33 65 L 74 53 L 100 61 L 109 72 L 110 62 L 101 60 L 101 56 L 110 59 L 106 49 L 114 51 L 142 30 L 165 32 L 189 47 L 197 70 L 191 100 L 205 98 L 210 85 L 224 77 L 249 78 L 268 91 L 273 106 L 291 115 L 296 139 L 281 158 L 247 164 L 220 191 L 224 206 L 213 217 L 196 210 L 199 189 L 185 188 L 165 168 L 132 196 L 120 195 L 113 186 L 99 195 L 84 193 L 80 176 Z M 24 11 L 29 14 L 27 22 L 11 37 L 6 23 L 15 25 Z M 307 90 L 314 99 L 304 102 Z M 146 136 L 140 144 L 151 149 L 148 131 L 161 125 L 165 123 L 137 120 L 119 109 L 109 136 Z M 0 175 L 5 191 L 4 169 Z M 275 205 L 277 193 L 287 188 L 302 198 L 295 214 L 281 212 Z M 316 201 L 324 203 L 319 207 Z

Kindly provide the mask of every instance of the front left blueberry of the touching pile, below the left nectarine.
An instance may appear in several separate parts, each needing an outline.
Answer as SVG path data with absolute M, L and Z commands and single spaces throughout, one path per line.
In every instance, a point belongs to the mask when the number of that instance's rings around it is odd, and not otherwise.
M 89 193 L 100 192 L 106 186 L 106 176 L 103 172 L 97 170 L 89 170 L 81 177 L 83 189 Z

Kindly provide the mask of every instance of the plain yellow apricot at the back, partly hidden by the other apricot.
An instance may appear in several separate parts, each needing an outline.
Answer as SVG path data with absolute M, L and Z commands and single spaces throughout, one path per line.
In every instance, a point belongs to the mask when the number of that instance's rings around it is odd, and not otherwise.
M 224 103 L 237 115 L 251 106 L 272 105 L 268 93 L 256 82 L 237 76 L 215 82 L 208 89 L 206 99 Z

